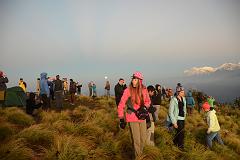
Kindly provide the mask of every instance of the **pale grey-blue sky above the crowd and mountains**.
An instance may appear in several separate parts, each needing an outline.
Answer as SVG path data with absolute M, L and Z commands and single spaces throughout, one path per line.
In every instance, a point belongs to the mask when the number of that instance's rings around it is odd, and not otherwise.
M 29 90 L 41 72 L 100 87 L 141 71 L 161 83 L 238 63 L 239 15 L 239 0 L 0 0 L 0 70 Z

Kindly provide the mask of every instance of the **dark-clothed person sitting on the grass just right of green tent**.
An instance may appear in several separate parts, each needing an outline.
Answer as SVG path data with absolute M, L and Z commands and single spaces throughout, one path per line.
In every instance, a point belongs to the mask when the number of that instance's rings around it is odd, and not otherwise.
M 36 104 L 35 93 L 30 92 L 29 93 L 29 98 L 27 99 L 27 103 L 26 103 L 26 113 L 29 114 L 29 115 L 33 115 L 34 109 L 40 108 L 41 105 L 42 105 L 41 102 Z

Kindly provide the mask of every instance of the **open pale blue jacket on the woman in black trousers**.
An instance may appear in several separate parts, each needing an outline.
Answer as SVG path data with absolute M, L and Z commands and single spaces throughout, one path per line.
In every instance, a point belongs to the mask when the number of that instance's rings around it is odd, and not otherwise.
M 183 97 L 183 111 L 184 111 L 184 117 L 178 116 L 179 114 L 179 109 L 178 109 L 178 100 L 177 97 L 173 97 L 170 101 L 170 106 L 168 109 L 168 116 L 167 116 L 167 121 L 172 122 L 172 124 L 176 124 L 178 120 L 185 120 L 186 118 L 186 99 Z

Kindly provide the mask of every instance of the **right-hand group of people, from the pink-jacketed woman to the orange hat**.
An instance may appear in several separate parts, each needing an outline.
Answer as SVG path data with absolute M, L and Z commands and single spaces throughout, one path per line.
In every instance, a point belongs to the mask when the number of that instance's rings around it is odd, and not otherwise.
M 181 83 L 176 86 L 173 94 L 172 89 L 161 90 L 161 86 L 155 87 L 143 85 L 143 75 L 135 72 L 128 87 L 124 86 L 119 79 L 115 86 L 116 104 L 118 106 L 119 126 L 124 129 L 129 124 L 130 133 L 133 141 L 135 156 L 140 156 L 144 146 L 154 146 L 154 127 L 158 122 L 158 113 L 162 99 L 169 98 L 170 104 L 166 118 L 166 127 L 169 131 L 175 130 L 173 143 L 180 150 L 184 149 L 184 130 L 186 116 L 193 114 L 195 101 L 192 91 L 189 90 L 185 96 L 185 89 Z M 120 98 L 121 97 L 121 98 Z M 214 139 L 221 145 L 223 141 L 220 137 L 220 126 L 214 110 L 215 99 L 211 96 L 197 95 L 198 111 L 203 110 L 206 114 L 208 129 L 206 132 L 207 147 L 212 148 Z M 127 109 L 125 109 L 127 107 Z M 146 114 L 146 110 L 148 111 Z

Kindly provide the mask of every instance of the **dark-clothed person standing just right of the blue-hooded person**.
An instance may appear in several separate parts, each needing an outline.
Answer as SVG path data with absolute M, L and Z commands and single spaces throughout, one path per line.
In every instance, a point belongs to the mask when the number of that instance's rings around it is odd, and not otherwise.
M 61 110 L 63 108 L 63 81 L 60 80 L 60 76 L 56 76 L 56 80 L 53 81 L 54 84 L 54 95 L 56 98 L 56 107 Z

